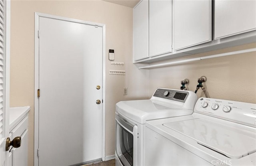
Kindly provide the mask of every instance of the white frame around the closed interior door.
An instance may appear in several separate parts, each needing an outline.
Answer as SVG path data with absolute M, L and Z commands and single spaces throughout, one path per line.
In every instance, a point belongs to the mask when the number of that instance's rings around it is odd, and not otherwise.
M 39 100 L 37 97 L 37 90 L 39 85 L 39 18 L 51 18 L 56 20 L 86 24 L 90 26 L 102 27 L 102 160 L 105 161 L 105 113 L 106 113 L 106 25 L 94 22 L 88 22 L 83 20 L 76 20 L 72 18 L 66 18 L 61 16 L 54 16 L 49 14 L 43 14 L 35 12 L 35 38 L 34 38 L 34 166 L 38 166 L 38 146 L 39 146 Z

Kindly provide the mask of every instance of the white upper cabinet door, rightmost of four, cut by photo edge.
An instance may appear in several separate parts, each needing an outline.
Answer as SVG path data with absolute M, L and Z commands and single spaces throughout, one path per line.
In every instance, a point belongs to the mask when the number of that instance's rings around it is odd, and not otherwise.
M 214 2 L 214 39 L 256 30 L 256 0 Z

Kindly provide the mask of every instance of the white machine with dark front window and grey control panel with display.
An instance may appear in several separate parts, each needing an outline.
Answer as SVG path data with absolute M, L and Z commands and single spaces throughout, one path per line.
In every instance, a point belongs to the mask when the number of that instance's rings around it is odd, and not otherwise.
M 116 104 L 116 166 L 143 166 L 147 120 L 191 115 L 197 96 L 192 91 L 156 89 L 148 100 Z

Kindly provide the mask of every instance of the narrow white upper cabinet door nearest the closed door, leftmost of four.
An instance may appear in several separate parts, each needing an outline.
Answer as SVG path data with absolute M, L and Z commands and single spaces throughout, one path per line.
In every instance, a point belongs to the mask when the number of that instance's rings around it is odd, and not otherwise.
M 148 57 L 148 0 L 142 0 L 133 10 L 134 60 Z

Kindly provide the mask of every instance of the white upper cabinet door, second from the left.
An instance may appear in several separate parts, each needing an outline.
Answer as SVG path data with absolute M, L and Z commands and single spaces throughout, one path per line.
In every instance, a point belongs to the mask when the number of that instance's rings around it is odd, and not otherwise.
M 172 51 L 171 0 L 149 1 L 149 56 Z

